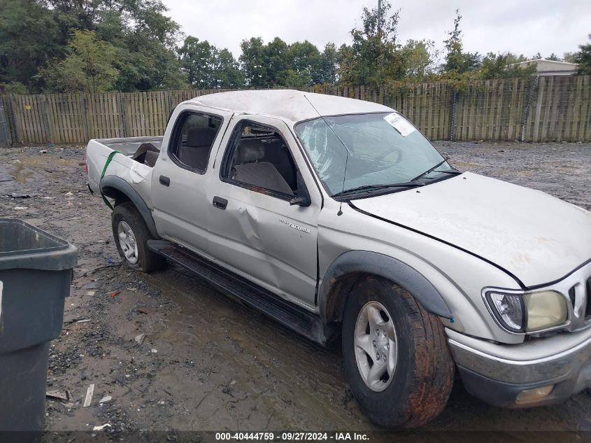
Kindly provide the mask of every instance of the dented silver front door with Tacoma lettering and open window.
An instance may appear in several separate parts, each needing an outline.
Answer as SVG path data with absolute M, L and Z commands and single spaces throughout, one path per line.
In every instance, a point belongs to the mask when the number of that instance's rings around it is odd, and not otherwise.
M 313 309 L 321 195 L 304 157 L 282 120 L 244 115 L 228 132 L 216 161 L 219 174 L 208 187 L 211 253 L 276 295 Z M 290 204 L 299 193 L 298 175 L 309 206 Z

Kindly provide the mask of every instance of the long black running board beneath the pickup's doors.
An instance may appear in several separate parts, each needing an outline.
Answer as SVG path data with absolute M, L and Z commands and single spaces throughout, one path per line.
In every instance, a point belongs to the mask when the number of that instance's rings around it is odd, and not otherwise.
M 312 312 L 281 299 L 186 248 L 165 240 L 148 240 L 148 248 L 199 275 L 222 293 L 238 298 L 241 302 L 322 346 L 326 346 L 338 332 L 334 326 L 323 324 L 320 317 Z

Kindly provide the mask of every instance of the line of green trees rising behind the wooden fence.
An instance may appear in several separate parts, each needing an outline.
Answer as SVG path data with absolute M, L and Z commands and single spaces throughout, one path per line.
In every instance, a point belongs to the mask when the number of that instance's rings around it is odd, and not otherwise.
M 161 0 L 0 0 L 0 10 L 0 92 L 405 87 L 436 80 L 462 88 L 473 80 L 535 72 L 516 65 L 524 55 L 464 50 L 459 11 L 442 51 L 426 39 L 401 42 L 401 11 L 385 3 L 380 10 L 363 8 L 350 44 L 327 43 L 320 50 L 309 41 L 252 37 L 241 42 L 236 59 L 227 48 L 184 36 L 164 15 Z M 591 73 L 591 43 L 578 49 L 563 59 Z

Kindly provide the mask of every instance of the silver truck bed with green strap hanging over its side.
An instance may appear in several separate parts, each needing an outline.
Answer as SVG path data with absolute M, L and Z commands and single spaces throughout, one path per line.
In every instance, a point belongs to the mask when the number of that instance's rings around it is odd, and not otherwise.
M 93 139 L 86 146 L 86 163 L 88 167 L 88 185 L 94 192 L 100 192 L 99 182 L 108 155 L 113 151 L 118 154 L 108 165 L 105 176 L 118 176 L 127 181 L 150 205 L 150 186 L 152 168 L 136 162 L 134 156 L 143 143 L 151 143 L 155 148 L 162 146 L 162 136 L 125 137 L 120 139 Z

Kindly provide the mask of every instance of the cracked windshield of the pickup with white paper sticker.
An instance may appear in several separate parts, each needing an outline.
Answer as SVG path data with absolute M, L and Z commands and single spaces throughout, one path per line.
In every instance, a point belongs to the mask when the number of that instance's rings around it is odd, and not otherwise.
M 406 183 L 437 164 L 421 180 L 454 170 L 398 113 L 317 118 L 295 131 L 330 195 Z

